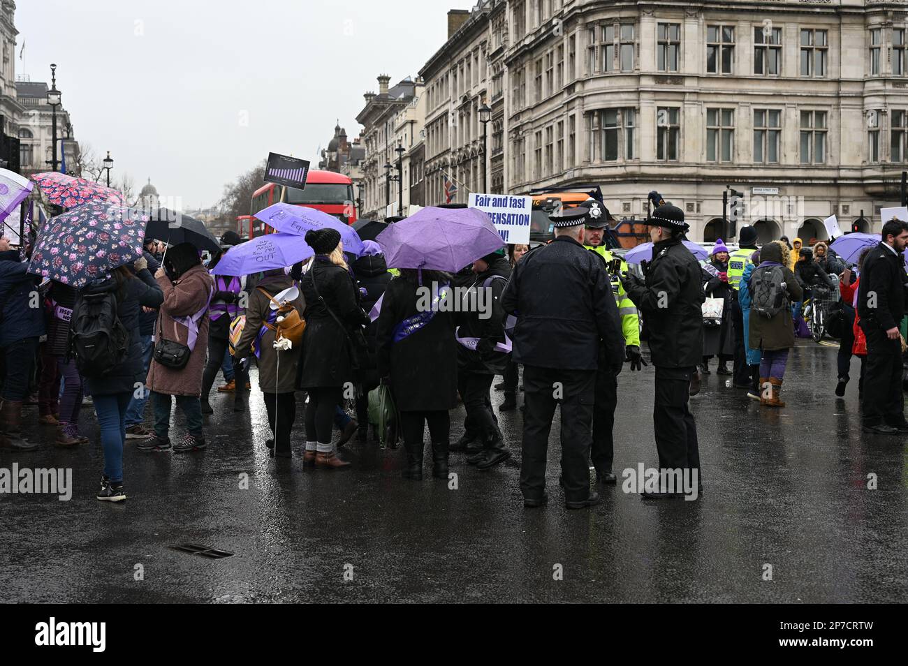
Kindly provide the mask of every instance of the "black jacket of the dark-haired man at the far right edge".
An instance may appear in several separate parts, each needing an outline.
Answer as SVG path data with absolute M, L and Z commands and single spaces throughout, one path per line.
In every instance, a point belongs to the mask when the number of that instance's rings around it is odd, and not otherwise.
M 903 255 L 882 242 L 870 250 L 864 258 L 857 289 L 857 313 L 861 320 L 873 322 L 883 330 L 899 326 L 905 315 L 906 281 Z M 869 297 L 871 292 L 876 296 L 875 302 Z

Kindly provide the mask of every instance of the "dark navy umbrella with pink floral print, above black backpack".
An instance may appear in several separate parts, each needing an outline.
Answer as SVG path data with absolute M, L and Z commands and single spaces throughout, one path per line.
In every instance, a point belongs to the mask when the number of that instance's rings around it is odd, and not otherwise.
M 38 232 L 28 272 L 82 289 L 142 256 L 148 218 L 94 201 L 47 220 Z

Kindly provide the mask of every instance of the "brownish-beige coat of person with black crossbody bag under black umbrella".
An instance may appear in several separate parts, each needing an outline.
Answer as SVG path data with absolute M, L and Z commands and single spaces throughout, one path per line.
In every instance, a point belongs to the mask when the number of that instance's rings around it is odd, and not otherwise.
M 180 276 L 176 282 L 163 275 L 158 284 L 164 292 L 164 301 L 158 310 L 158 320 L 154 323 L 154 339 L 161 336 L 168 340 L 188 344 L 189 328 L 178 324 L 174 317 L 191 317 L 205 308 L 211 298 L 214 280 L 201 264 L 193 266 Z M 189 363 L 180 370 L 163 367 L 152 359 L 148 368 L 145 383 L 155 393 L 171 396 L 201 396 L 202 369 L 205 367 L 205 355 L 208 350 L 208 312 L 199 320 L 199 337 L 189 357 Z

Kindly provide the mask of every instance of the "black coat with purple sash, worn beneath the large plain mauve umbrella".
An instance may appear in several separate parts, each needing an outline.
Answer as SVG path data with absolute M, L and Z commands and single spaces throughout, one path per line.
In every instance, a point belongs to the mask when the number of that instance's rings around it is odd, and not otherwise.
M 457 355 L 454 314 L 436 312 L 426 326 L 394 342 L 394 328 L 419 313 L 417 285 L 394 278 L 385 289 L 378 319 L 378 362 L 390 377 L 401 411 L 453 409 L 457 406 Z

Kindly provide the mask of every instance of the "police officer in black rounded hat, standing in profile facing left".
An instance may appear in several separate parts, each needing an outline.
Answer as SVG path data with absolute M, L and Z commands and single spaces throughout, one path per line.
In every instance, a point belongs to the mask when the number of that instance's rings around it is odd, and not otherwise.
M 699 484 L 700 453 L 694 416 L 687 406 L 691 377 L 703 354 L 705 299 L 700 263 L 681 243 L 690 228 L 684 211 L 659 206 L 647 220 L 653 240 L 653 259 L 643 264 L 646 281 L 632 273 L 622 279 L 627 294 L 644 318 L 649 350 L 656 367 L 653 426 L 660 470 L 696 470 Z M 660 491 L 665 491 L 660 488 Z M 644 493 L 647 499 L 682 496 L 681 493 Z

